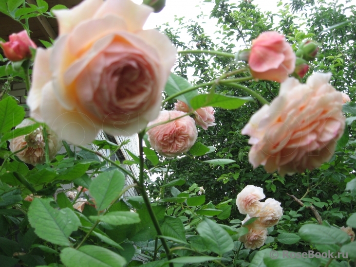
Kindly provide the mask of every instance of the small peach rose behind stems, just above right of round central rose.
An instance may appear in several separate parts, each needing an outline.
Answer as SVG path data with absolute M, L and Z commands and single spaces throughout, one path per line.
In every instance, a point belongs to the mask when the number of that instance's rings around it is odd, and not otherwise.
M 178 100 L 177 103 L 174 104 L 174 110 L 179 110 L 183 112 L 190 112 L 193 109 L 189 108 L 186 103 Z M 215 117 L 214 117 L 214 108 L 213 107 L 201 107 L 193 112 L 195 123 L 197 125 L 202 126 L 204 130 L 207 130 L 207 127 L 214 126 Z

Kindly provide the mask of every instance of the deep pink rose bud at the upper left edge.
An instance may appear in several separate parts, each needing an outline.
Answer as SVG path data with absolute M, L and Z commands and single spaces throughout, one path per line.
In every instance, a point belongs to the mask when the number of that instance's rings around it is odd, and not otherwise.
M 32 48 L 37 48 L 36 44 L 30 39 L 26 31 L 12 34 L 9 36 L 9 41 L 6 43 L 0 42 L 5 56 L 11 61 L 20 61 L 22 59 L 31 58 Z

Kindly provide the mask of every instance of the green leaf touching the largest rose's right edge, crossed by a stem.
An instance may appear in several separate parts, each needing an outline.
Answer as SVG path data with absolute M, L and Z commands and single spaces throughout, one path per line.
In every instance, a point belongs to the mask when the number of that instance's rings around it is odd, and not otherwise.
M 185 78 L 182 78 L 174 73 L 170 73 L 165 87 L 165 91 L 169 96 L 171 96 L 190 87 L 192 87 L 191 84 Z M 176 99 L 183 101 L 190 107 L 190 100 L 197 95 L 197 90 L 192 90 L 190 92 L 178 96 Z

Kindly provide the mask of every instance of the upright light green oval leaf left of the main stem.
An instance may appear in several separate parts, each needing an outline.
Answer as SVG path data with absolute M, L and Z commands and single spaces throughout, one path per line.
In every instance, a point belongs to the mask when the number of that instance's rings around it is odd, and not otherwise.
M 105 210 L 120 194 L 125 176 L 118 170 L 104 172 L 92 181 L 89 191 L 96 202 L 96 210 Z

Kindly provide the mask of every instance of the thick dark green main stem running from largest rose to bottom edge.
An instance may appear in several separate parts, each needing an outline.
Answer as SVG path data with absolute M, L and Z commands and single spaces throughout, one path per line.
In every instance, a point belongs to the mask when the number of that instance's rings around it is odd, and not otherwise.
M 154 228 L 157 231 L 157 235 L 163 235 L 161 228 L 159 226 L 158 220 L 156 218 L 156 215 L 153 212 L 151 203 L 150 203 L 150 199 L 147 195 L 146 189 L 145 189 L 145 180 L 144 180 L 144 159 L 143 159 L 143 136 L 145 135 L 145 132 L 140 132 L 138 134 L 138 145 L 139 145 L 139 151 L 140 151 L 140 178 L 139 178 L 139 186 L 140 186 L 140 192 L 141 192 L 141 196 L 143 197 L 143 200 L 145 201 L 146 207 L 147 207 L 147 211 L 150 214 L 152 223 L 154 225 Z M 163 248 L 166 251 L 167 254 L 167 259 L 170 260 L 172 257 L 170 255 L 170 250 L 168 247 L 168 244 L 166 242 L 166 239 L 160 237 Z M 169 263 L 169 267 L 174 267 L 173 263 Z

